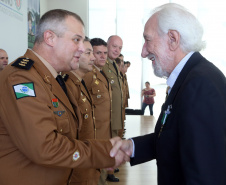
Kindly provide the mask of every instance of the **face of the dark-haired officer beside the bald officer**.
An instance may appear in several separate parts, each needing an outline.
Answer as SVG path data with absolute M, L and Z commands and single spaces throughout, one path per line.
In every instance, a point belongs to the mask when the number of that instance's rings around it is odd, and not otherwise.
M 108 54 L 108 49 L 106 46 L 101 45 L 101 46 L 93 46 L 93 55 L 96 58 L 94 61 L 94 64 L 97 67 L 102 68 L 107 61 L 107 54 Z

